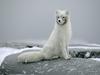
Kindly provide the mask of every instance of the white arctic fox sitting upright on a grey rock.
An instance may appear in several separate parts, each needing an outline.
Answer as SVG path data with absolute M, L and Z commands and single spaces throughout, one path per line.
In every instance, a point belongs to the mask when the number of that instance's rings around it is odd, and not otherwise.
M 35 62 L 43 59 L 64 58 L 70 59 L 68 45 L 71 39 L 71 21 L 66 10 L 56 11 L 54 29 L 40 51 L 25 52 L 18 56 L 19 62 Z

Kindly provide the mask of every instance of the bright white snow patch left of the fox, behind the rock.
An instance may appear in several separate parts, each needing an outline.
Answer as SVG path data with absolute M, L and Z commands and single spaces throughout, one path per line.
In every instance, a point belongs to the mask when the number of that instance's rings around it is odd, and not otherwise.
M 4 58 L 11 54 L 20 53 L 25 50 L 40 50 L 39 47 L 33 47 L 33 48 L 24 48 L 24 49 L 15 49 L 10 47 L 1 47 L 0 48 L 0 65 L 3 62 Z

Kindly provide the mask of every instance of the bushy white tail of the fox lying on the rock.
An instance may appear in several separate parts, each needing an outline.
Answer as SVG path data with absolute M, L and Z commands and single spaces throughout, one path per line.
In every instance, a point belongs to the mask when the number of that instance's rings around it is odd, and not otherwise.
M 18 56 L 18 62 L 35 62 L 43 59 L 41 51 L 25 52 Z

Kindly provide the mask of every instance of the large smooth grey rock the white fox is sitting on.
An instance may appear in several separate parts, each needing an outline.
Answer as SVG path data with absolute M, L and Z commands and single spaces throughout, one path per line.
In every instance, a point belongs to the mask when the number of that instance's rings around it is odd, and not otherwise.
M 100 62 L 91 59 L 71 58 L 44 60 L 23 64 L 17 62 L 19 54 L 5 58 L 1 74 L 34 74 L 34 75 L 100 75 Z

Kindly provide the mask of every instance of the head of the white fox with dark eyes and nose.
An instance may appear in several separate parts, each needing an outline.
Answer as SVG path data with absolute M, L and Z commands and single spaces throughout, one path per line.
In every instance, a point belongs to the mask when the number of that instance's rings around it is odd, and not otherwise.
M 66 10 L 56 11 L 56 22 L 58 25 L 65 25 L 68 21 L 69 12 Z

